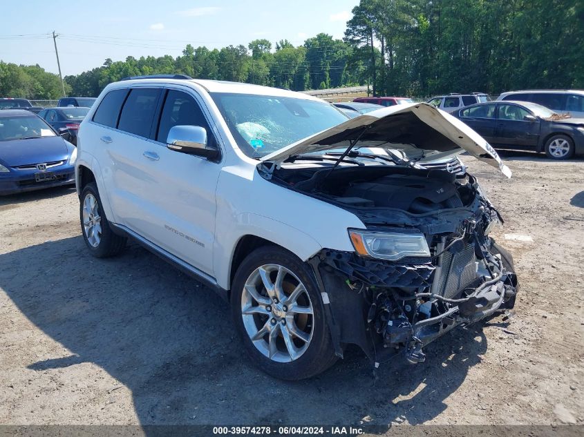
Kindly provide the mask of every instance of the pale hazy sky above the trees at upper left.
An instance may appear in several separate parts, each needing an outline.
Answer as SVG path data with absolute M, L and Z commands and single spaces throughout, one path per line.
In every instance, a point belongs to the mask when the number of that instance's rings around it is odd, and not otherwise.
M 265 38 L 295 46 L 326 32 L 343 37 L 359 0 L 179 1 L 88 0 L 2 1 L 0 60 L 39 64 L 72 75 L 127 56 L 180 55 L 187 43 L 221 48 Z

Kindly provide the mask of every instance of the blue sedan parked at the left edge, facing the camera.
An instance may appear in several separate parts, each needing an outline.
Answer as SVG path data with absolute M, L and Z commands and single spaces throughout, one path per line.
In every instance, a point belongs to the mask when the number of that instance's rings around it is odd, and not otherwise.
M 0 110 L 0 195 L 75 184 L 77 148 L 28 110 Z

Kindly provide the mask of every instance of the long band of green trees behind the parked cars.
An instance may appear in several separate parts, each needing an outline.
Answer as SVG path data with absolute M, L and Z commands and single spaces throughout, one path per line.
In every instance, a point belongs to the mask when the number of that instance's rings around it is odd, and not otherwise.
M 581 0 L 361 0 L 343 39 L 294 46 L 256 39 L 178 57 L 106 59 L 64 78 L 66 93 L 97 96 L 122 77 L 185 74 L 292 90 L 370 85 L 375 95 L 424 97 L 520 88 L 584 88 Z M 0 96 L 55 99 L 59 77 L 0 62 Z

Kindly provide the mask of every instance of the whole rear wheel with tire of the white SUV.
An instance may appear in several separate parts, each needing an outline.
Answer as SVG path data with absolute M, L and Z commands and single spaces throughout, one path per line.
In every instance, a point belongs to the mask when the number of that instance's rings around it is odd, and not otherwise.
M 100 193 L 95 182 L 87 184 L 81 193 L 79 220 L 83 240 L 95 258 L 109 258 L 126 246 L 126 238 L 116 235 L 104 214 Z

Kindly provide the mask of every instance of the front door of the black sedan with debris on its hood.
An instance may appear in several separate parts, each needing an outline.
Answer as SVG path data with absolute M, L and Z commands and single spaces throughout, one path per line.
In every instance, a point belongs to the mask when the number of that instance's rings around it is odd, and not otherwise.
M 494 143 L 509 146 L 535 148 L 538 144 L 540 121 L 525 119 L 533 115 L 522 106 L 516 104 L 498 104 L 497 126 Z

